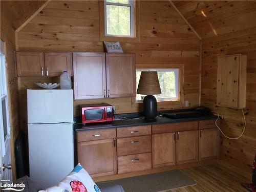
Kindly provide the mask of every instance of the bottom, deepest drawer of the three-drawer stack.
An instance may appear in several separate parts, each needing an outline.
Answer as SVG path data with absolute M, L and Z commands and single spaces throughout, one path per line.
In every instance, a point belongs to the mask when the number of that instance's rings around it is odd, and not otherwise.
M 152 168 L 151 153 L 117 157 L 117 173 L 138 172 Z

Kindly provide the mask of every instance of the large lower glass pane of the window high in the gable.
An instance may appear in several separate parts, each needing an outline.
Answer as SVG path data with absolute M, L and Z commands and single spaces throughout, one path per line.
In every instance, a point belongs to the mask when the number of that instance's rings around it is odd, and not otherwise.
M 131 35 L 130 7 L 106 5 L 106 32 L 109 35 Z

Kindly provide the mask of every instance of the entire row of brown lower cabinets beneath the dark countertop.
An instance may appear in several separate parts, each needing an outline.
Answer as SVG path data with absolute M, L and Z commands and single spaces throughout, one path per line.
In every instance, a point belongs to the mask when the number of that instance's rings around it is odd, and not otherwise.
M 100 177 L 219 157 L 220 133 L 214 120 L 199 121 L 199 127 L 198 121 L 180 125 L 77 132 L 78 162 L 92 177 Z

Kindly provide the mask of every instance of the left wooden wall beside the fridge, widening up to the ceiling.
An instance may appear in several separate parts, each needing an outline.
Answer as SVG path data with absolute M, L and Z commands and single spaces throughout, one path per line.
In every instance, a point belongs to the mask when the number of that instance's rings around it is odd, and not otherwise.
M 15 30 L 45 1 L 1 1 L 1 39 L 4 41 L 7 62 L 11 156 L 13 179 L 16 179 L 14 143 L 19 133 L 18 79 L 15 65 Z M 22 110 L 21 110 L 22 112 Z M 23 112 L 22 112 L 23 113 Z

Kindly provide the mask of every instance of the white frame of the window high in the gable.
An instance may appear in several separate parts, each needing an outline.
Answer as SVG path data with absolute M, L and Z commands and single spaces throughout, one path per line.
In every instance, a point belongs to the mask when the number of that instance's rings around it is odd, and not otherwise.
M 121 3 L 111 3 L 111 2 L 106 2 L 107 0 L 104 0 L 104 35 L 105 36 L 108 36 L 108 37 L 128 37 L 128 38 L 133 38 L 135 37 L 135 26 L 134 26 L 134 16 L 135 16 L 135 13 L 134 13 L 134 6 L 135 6 L 135 3 L 134 1 L 132 0 L 128 0 L 129 4 L 121 4 Z M 111 34 L 108 34 L 108 31 L 107 31 L 107 25 L 106 25 L 106 6 L 107 5 L 113 5 L 113 6 L 122 6 L 122 7 L 130 7 L 130 34 L 131 35 L 111 35 Z

